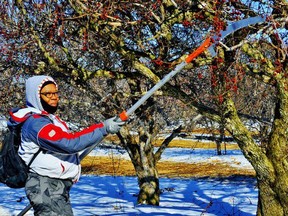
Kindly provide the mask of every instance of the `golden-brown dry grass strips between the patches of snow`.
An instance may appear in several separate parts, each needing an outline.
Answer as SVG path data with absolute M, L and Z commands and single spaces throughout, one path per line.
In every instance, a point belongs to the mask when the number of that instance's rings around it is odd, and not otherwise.
M 159 145 L 161 140 L 155 143 Z M 174 140 L 169 147 L 178 148 L 215 148 L 214 143 L 200 143 L 187 140 Z M 222 147 L 223 148 L 223 147 Z M 228 145 L 227 149 L 237 149 L 237 145 Z M 228 177 L 233 175 L 241 176 L 255 176 L 254 170 L 238 169 L 223 164 L 221 161 L 213 161 L 212 163 L 183 163 L 183 162 L 169 162 L 160 161 L 157 163 L 157 169 L 160 177 Z M 135 171 L 131 161 L 121 158 L 107 157 L 86 157 L 82 161 L 83 173 L 95 175 L 114 175 L 114 176 L 134 176 Z

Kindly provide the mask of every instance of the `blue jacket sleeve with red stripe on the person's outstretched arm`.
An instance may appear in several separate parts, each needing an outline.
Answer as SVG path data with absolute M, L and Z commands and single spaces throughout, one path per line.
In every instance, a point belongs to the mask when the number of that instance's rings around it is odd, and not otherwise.
M 58 153 L 74 154 L 101 142 L 107 135 L 103 123 L 91 125 L 79 132 L 69 133 L 51 123 L 48 118 L 32 117 L 26 125 L 26 136 L 41 148 Z M 23 132 L 23 130 L 22 130 Z

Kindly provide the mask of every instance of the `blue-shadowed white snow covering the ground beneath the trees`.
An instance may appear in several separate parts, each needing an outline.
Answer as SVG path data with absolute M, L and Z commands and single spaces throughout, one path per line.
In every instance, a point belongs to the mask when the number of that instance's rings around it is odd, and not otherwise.
M 96 148 L 91 155 L 115 154 L 127 158 L 123 150 Z M 252 168 L 240 150 L 228 150 L 217 156 L 215 150 L 166 149 L 162 160 L 227 162 L 238 168 Z M 235 163 L 235 161 L 237 163 Z M 85 175 L 71 191 L 75 216 L 90 215 L 185 215 L 185 216 L 253 216 L 256 214 L 258 190 L 256 180 L 247 177 L 223 179 L 160 178 L 162 190 L 159 207 L 137 205 L 136 177 Z M 23 189 L 0 184 L 0 216 L 17 215 L 28 204 Z M 30 210 L 27 214 L 33 215 Z

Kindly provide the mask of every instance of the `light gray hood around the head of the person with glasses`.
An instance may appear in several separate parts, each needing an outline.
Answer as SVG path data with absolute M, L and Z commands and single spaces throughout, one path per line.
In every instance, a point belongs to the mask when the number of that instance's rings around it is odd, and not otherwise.
M 26 106 L 33 107 L 40 111 L 44 111 L 41 100 L 40 100 L 40 90 L 45 82 L 51 81 L 56 86 L 56 82 L 50 76 L 33 76 L 26 81 Z

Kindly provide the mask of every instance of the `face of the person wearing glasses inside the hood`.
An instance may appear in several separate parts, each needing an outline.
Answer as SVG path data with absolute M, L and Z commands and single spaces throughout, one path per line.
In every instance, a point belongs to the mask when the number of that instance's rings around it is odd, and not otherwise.
M 51 83 L 44 86 L 40 92 L 40 97 L 50 106 L 57 107 L 59 94 L 56 85 Z

